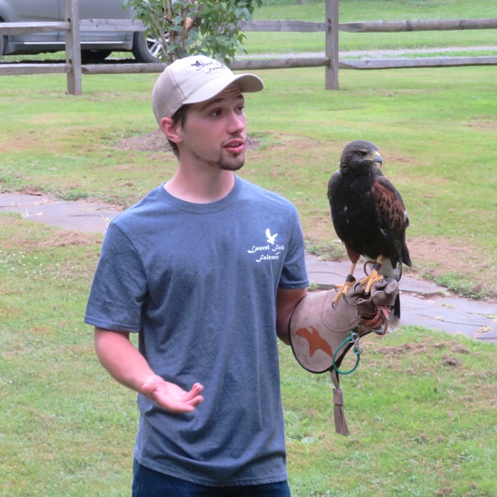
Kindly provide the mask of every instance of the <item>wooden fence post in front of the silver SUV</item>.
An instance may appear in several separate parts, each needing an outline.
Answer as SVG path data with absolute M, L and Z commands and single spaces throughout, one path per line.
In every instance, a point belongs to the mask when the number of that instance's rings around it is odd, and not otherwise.
M 82 94 L 81 84 L 81 43 L 80 43 L 80 6 L 78 0 L 65 0 L 65 21 L 70 30 L 65 33 L 65 63 L 67 72 L 67 93 Z

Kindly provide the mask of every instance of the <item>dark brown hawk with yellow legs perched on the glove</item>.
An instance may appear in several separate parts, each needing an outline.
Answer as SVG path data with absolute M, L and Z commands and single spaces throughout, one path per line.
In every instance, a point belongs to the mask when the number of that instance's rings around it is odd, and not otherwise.
M 354 270 L 360 256 L 374 261 L 371 273 L 361 280 L 361 284 L 366 284 L 366 295 L 373 281 L 383 276 L 398 281 L 402 264 L 412 266 L 405 244 L 408 214 L 400 193 L 381 173 L 381 163 L 381 155 L 373 143 L 353 141 L 344 148 L 340 168 L 329 179 L 333 226 L 352 263 L 335 302 L 356 281 Z M 395 328 L 399 319 L 397 295 L 393 317 L 389 320 L 391 327 Z

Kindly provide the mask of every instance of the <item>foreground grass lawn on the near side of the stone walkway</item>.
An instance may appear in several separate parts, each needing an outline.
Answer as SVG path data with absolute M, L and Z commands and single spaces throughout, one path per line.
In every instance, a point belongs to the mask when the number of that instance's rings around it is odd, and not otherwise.
M 0 496 L 129 496 L 135 395 L 82 324 L 101 236 L 10 214 L 0 231 Z M 361 346 L 349 437 L 329 376 L 280 347 L 293 497 L 495 495 L 496 346 L 417 327 Z

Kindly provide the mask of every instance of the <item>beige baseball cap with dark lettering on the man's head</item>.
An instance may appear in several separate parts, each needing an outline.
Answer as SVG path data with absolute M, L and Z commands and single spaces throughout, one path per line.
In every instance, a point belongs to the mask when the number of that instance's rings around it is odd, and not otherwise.
M 205 102 L 231 83 L 238 82 L 242 93 L 260 92 L 264 84 L 256 75 L 235 75 L 226 65 L 205 55 L 175 60 L 155 82 L 152 107 L 160 126 L 163 117 L 172 117 L 184 104 Z

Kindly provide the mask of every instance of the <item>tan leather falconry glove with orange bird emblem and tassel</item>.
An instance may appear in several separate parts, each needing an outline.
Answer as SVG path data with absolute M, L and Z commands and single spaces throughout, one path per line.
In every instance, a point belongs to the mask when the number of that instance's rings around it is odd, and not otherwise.
M 357 282 L 337 302 L 333 302 L 335 290 L 311 293 L 295 307 L 288 324 L 290 345 L 300 366 L 311 373 L 329 371 L 332 376 L 335 428 L 342 435 L 349 435 L 349 430 L 339 388 L 339 366 L 360 337 L 386 332 L 398 282 L 383 278 L 373 283 L 368 295 L 365 290 L 366 285 Z

